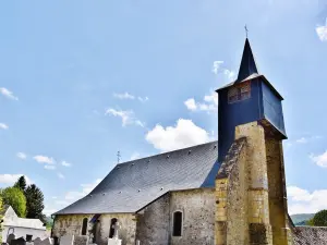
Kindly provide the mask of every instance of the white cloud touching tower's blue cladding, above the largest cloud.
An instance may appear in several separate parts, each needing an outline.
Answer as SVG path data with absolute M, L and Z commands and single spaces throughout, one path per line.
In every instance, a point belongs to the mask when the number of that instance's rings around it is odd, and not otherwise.
M 217 112 L 218 111 L 218 94 L 211 91 L 210 95 L 206 95 L 203 102 L 196 102 L 194 98 L 190 98 L 184 101 L 186 108 L 191 111 L 206 111 Z

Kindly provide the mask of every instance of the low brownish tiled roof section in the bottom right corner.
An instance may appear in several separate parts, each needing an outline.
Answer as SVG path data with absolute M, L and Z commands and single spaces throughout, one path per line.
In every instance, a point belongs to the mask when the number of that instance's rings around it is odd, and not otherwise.
M 294 228 L 294 245 L 327 245 L 327 228 Z

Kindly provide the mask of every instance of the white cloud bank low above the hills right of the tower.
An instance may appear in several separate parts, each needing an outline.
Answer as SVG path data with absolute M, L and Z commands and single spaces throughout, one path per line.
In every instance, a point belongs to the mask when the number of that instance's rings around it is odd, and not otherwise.
M 327 189 L 308 192 L 298 186 L 288 186 L 287 191 L 290 215 L 315 213 L 327 209 Z

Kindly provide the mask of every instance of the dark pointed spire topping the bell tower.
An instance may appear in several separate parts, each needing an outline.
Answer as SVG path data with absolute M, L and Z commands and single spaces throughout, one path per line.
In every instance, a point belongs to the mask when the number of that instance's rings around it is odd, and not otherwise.
M 245 79 L 252 74 L 258 74 L 257 66 L 254 60 L 254 56 L 252 53 L 252 49 L 250 46 L 250 41 L 246 38 L 245 46 L 243 50 L 242 61 L 240 65 L 238 82 Z

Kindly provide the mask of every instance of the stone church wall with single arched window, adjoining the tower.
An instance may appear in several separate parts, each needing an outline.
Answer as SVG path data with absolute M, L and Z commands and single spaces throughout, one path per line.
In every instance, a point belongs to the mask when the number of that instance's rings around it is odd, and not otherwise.
M 171 192 L 137 215 L 136 238 L 142 245 L 213 245 L 215 189 Z M 182 236 L 172 236 L 173 212 L 183 213 Z

